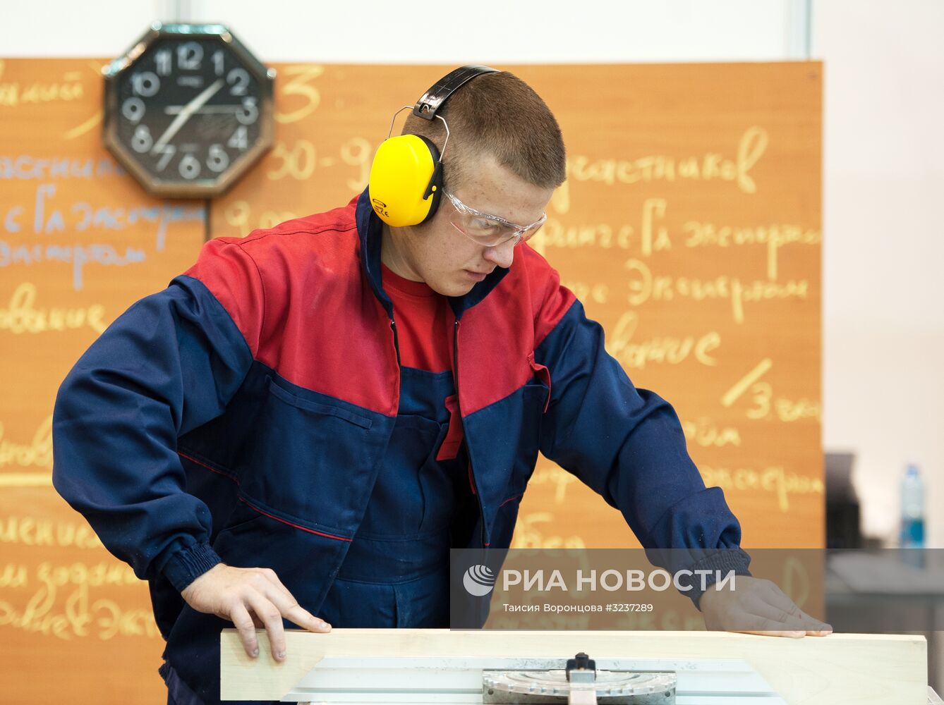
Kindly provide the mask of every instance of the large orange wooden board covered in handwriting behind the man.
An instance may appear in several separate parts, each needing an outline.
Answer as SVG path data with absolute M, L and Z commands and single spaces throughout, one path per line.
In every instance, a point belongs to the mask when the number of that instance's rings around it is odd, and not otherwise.
M 59 382 L 209 236 L 346 203 L 390 116 L 449 67 L 277 65 L 277 144 L 209 209 L 102 147 L 104 60 L 0 60 L 0 672 L 4 700 L 160 702 L 146 586 L 50 485 Z M 522 66 L 568 180 L 532 241 L 673 402 L 745 546 L 822 546 L 818 63 Z M 636 546 L 542 459 L 515 546 Z M 56 673 L 50 679 L 50 669 Z M 12 678 L 8 676 L 12 675 Z

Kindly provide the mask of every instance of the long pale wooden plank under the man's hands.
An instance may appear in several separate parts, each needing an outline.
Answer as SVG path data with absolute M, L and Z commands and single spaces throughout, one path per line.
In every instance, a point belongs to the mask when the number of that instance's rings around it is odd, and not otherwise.
M 260 656 L 250 659 L 235 629 L 222 633 L 223 699 L 278 699 L 326 656 L 561 659 L 579 651 L 595 659 L 743 660 L 790 705 L 924 705 L 927 698 L 927 645 L 920 636 L 334 629 L 288 632 L 282 663 L 272 659 L 264 632 L 259 637 Z

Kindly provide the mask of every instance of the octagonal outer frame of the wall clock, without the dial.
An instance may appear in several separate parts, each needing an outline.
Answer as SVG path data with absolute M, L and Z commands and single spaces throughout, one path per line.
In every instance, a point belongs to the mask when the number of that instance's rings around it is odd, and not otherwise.
M 137 155 L 128 149 L 126 143 L 119 139 L 121 80 L 126 72 L 134 68 L 136 60 L 140 59 L 149 48 L 168 38 L 174 40 L 211 38 L 220 42 L 221 45 L 226 45 L 228 50 L 240 60 L 242 67 L 258 82 L 259 137 L 238 159 L 230 162 L 219 176 L 194 178 L 192 181 L 185 181 L 183 177 L 180 180 L 159 178 L 143 165 Z M 148 28 L 138 42 L 126 51 L 124 56 L 111 61 L 102 73 L 105 76 L 102 139 L 115 159 L 118 159 L 148 193 L 165 198 L 211 198 L 222 195 L 244 176 L 253 163 L 272 148 L 275 140 L 273 86 L 276 72 L 256 59 L 225 25 L 164 25 L 156 22 Z M 221 136 L 219 139 L 225 138 Z

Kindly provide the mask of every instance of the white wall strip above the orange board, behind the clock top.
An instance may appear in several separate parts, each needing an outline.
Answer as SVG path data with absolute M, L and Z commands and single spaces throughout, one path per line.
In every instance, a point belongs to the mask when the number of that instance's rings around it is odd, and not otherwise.
M 783 59 L 801 0 L 8 0 L 3 56 L 117 56 L 152 20 L 224 22 L 265 60 Z M 575 8 L 579 8 L 575 11 Z M 26 27 L 33 28 L 25 31 Z

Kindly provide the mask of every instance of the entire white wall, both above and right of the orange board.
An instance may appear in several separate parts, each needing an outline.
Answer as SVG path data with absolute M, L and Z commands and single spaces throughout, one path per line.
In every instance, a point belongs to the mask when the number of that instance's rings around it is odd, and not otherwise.
M 812 38 L 826 61 L 824 443 L 858 454 L 871 533 L 894 534 L 904 462 L 944 506 L 944 2 L 32 0 L 3 9 L 0 56 L 112 57 L 154 19 L 225 22 L 271 61 L 778 60 Z

